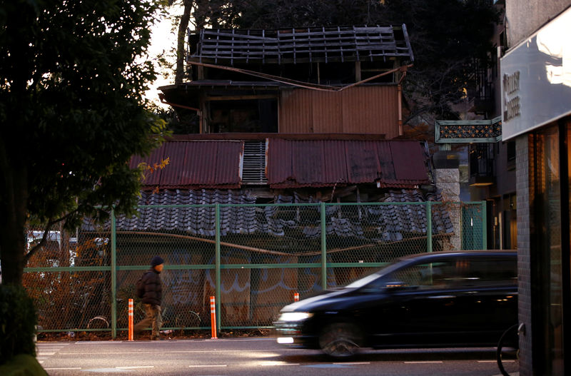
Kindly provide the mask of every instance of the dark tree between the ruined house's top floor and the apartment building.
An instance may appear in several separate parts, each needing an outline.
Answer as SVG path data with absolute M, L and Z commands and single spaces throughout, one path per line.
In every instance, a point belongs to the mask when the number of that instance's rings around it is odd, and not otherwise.
M 455 106 L 475 88 L 475 68 L 490 63 L 499 14 L 485 0 L 386 0 L 389 24 L 406 24 L 415 54 L 404 81 L 404 123 L 457 120 Z

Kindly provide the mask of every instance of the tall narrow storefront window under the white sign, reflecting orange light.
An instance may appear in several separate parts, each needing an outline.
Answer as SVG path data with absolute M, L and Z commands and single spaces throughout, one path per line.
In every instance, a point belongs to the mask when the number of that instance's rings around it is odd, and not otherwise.
M 535 138 L 535 236 L 542 275 L 545 356 L 550 375 L 562 375 L 562 230 L 559 127 L 537 132 Z M 568 189 L 568 188 L 566 188 Z

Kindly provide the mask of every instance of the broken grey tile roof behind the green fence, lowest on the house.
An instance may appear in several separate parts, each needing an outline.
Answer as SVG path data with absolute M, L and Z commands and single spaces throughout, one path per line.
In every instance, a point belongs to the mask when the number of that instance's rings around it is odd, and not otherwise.
M 423 195 L 419 190 L 389 190 L 385 202 L 424 202 L 440 200 L 439 195 Z M 256 198 L 248 190 L 163 190 L 159 193 L 143 192 L 138 208 L 138 216 L 126 218 L 118 216 L 118 231 L 167 232 L 181 231 L 188 235 L 212 237 L 216 234 L 215 208 L 221 205 L 221 235 L 268 234 L 285 236 L 288 233 L 301 233 L 305 238 L 320 236 L 319 206 L 303 206 L 305 213 L 314 215 L 287 215 L 295 206 L 246 205 L 253 204 Z M 310 203 L 298 195 L 278 195 L 276 203 Z M 311 202 L 316 203 L 315 200 Z M 162 206 L 161 206 L 162 205 Z M 165 206 L 168 205 L 168 206 Z M 210 205 L 210 206 L 209 206 Z M 364 239 L 365 231 L 375 233 L 369 239 L 378 243 L 390 243 L 410 237 L 410 234 L 426 234 L 425 205 L 362 205 L 363 216 L 355 215 L 357 210 L 349 205 L 326 205 L 326 232 L 340 238 Z M 285 214 L 284 214 L 285 213 Z M 316 219 L 311 219 L 316 218 Z M 366 218 L 366 219 L 364 219 Z M 109 228 L 107 223 L 105 226 Z M 96 228 L 89 221 L 84 222 L 83 230 Z M 453 224 L 444 205 L 433 205 L 433 234 L 451 235 Z

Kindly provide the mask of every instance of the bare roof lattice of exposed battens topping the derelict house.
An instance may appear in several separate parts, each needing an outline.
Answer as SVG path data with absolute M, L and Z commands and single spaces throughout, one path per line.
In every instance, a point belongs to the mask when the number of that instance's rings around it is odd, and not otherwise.
M 189 36 L 189 61 L 313 63 L 413 61 L 406 26 L 322 26 L 293 29 L 202 29 Z

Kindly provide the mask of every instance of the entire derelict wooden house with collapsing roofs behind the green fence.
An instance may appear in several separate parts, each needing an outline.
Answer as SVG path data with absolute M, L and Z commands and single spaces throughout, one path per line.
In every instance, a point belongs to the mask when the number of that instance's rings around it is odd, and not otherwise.
M 425 143 L 400 138 L 400 83 L 412 62 L 404 25 L 190 34 L 191 80 L 160 89 L 193 133 L 133 157 L 132 167 L 169 163 L 147 176 L 138 217 L 117 218 L 118 263 L 163 255 L 165 304 L 203 312 L 219 236 L 230 265 L 218 286 L 223 322 L 268 325 L 294 290 L 303 296 L 370 273 L 347 263 L 423 250 L 430 231 L 444 243 L 454 233 L 445 210 L 435 209 L 430 230 L 424 205 L 343 206 L 440 200 Z M 291 205 L 266 205 L 276 203 Z M 295 206 L 311 203 L 327 203 L 326 212 Z M 326 280 L 315 268 L 323 236 L 327 263 L 345 265 Z

